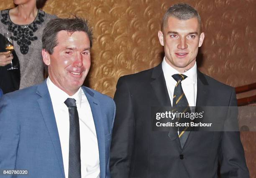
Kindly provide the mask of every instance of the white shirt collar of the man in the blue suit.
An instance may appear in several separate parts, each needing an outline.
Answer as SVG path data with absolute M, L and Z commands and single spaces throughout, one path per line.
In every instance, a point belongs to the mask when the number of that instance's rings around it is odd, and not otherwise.
M 48 77 L 46 80 L 47 87 L 51 96 L 52 103 L 62 104 L 67 98 L 74 98 L 76 100 L 77 107 L 81 107 L 82 100 L 82 90 L 81 87 L 79 90 L 72 96 L 69 96 L 59 87 L 57 87 L 54 83 L 52 83 L 51 79 Z

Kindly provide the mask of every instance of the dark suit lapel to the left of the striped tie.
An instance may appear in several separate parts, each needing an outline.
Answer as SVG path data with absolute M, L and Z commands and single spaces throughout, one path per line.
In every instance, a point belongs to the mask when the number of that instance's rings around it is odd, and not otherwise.
M 162 63 L 153 69 L 151 78 L 153 79 L 151 86 L 156 94 L 156 98 L 158 99 L 160 106 L 172 106 L 164 79 Z M 170 127 L 168 136 L 171 140 L 177 139 L 177 130 L 175 130 L 174 127 Z

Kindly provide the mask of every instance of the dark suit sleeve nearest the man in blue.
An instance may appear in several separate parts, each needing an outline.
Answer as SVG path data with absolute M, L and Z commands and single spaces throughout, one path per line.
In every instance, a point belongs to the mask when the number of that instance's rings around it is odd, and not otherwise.
M 127 83 L 120 78 L 114 96 L 116 116 L 110 150 L 111 178 L 128 178 L 134 138 L 132 94 Z

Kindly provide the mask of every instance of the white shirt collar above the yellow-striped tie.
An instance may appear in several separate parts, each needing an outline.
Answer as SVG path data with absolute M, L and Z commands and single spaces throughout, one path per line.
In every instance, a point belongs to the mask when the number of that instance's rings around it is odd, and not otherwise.
M 162 69 L 166 76 L 172 76 L 174 74 L 180 73 L 166 62 L 165 57 L 162 62 Z M 182 74 L 186 75 L 187 78 L 189 78 L 193 83 L 195 83 L 197 79 L 197 63 L 195 63 L 195 65 L 191 69 Z

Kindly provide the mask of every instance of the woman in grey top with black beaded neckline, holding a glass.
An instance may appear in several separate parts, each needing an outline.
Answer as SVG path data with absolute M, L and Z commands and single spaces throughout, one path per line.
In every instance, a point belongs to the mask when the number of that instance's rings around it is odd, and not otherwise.
M 45 0 L 13 0 L 13 3 L 17 5 L 15 8 L 1 11 L 0 33 L 9 31 L 13 35 L 14 50 L 20 64 L 19 89 L 22 89 L 44 80 L 41 36 L 46 23 L 56 18 L 56 15 L 47 14 L 37 8 Z M 1 52 L 0 66 L 6 66 L 8 63 L 3 64 L 3 60 L 8 56 Z

